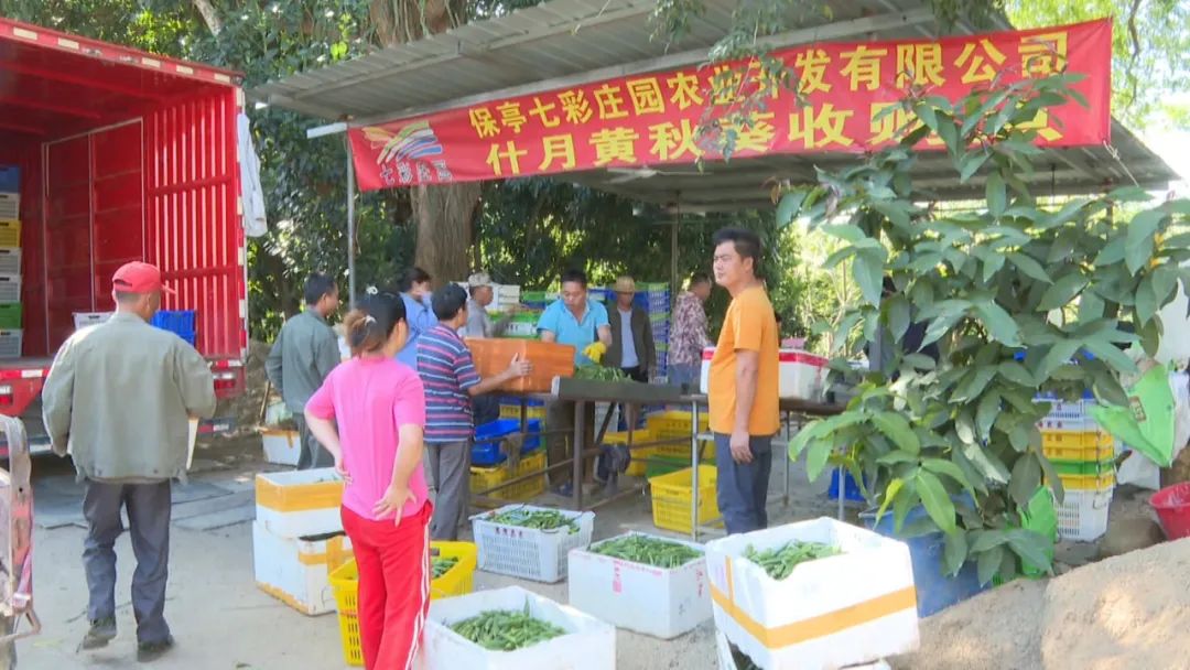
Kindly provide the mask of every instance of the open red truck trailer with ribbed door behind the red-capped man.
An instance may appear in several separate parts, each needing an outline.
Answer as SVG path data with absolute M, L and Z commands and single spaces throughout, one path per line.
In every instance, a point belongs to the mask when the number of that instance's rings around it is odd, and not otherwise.
M 21 319 L 0 331 L 0 414 L 24 420 L 33 452 L 49 447 L 39 394 L 54 353 L 76 313 L 113 308 L 111 277 L 129 261 L 161 267 L 177 289 L 162 307 L 196 312 L 217 392 L 243 393 L 238 82 L 0 18 L 0 194 L 18 202 L 0 209 L 0 295 L 19 294 Z

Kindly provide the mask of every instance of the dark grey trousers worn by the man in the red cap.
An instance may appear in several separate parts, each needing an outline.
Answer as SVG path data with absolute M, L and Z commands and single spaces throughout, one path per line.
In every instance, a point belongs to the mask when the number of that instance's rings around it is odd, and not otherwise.
M 129 532 L 137 569 L 132 574 L 132 612 L 137 640 L 159 643 L 169 638 L 165 624 L 165 581 L 169 577 L 170 484 L 117 484 L 88 481 L 82 513 L 87 539 L 82 561 L 90 600 L 92 621 L 115 616 L 115 540 L 124 532 L 120 509 L 129 511 Z

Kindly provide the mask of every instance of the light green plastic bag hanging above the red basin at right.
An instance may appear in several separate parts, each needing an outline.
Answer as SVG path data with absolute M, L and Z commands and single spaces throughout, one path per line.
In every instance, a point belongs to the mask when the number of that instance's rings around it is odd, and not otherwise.
M 1169 468 L 1173 462 L 1175 407 L 1169 370 L 1154 367 L 1127 393 L 1128 407 L 1092 407 L 1091 417 L 1113 437 Z

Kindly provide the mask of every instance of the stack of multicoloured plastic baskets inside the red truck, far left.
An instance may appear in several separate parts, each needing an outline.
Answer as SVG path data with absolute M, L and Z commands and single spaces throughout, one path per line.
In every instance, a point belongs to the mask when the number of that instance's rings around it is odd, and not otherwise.
M 20 169 L 0 165 L 0 358 L 20 358 Z

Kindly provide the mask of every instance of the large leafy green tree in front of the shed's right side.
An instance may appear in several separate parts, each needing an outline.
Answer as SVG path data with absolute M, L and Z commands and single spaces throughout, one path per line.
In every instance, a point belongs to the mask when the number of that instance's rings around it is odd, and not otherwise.
M 1051 540 L 1022 530 L 1042 478 L 1063 495 L 1036 428 L 1050 406 L 1034 396 L 1094 389 L 1101 402 L 1127 405 L 1119 375 L 1135 364 L 1122 347 L 1153 355 L 1158 311 L 1190 280 L 1180 267 L 1190 236 L 1176 234 L 1190 201 L 1122 223 L 1120 205 L 1147 194 L 1126 188 L 1053 211 L 1020 179 L 1040 154 L 1035 131 L 1020 126 L 1067 102 L 1071 81 L 994 86 L 954 104 L 910 99 L 915 120 L 898 146 L 783 196 L 784 212 L 801 211 L 843 243 L 827 264 L 848 261 L 862 290 L 835 344 L 857 327 L 863 342 L 892 350 L 846 412 L 807 426 L 790 455 L 807 452 L 812 477 L 841 458 L 882 514 L 891 507 L 897 528 L 922 505 L 928 519 L 903 532 L 944 532 L 946 571 L 973 561 L 982 582 L 1012 578 L 1022 561 L 1050 565 Z M 956 180 L 985 175 L 987 199 L 973 211 L 928 206 L 914 186 L 914 148 L 931 133 L 945 142 Z M 913 323 L 927 325 L 922 345 L 938 345 L 937 362 L 909 349 Z M 964 493 L 973 506 L 956 505 Z

